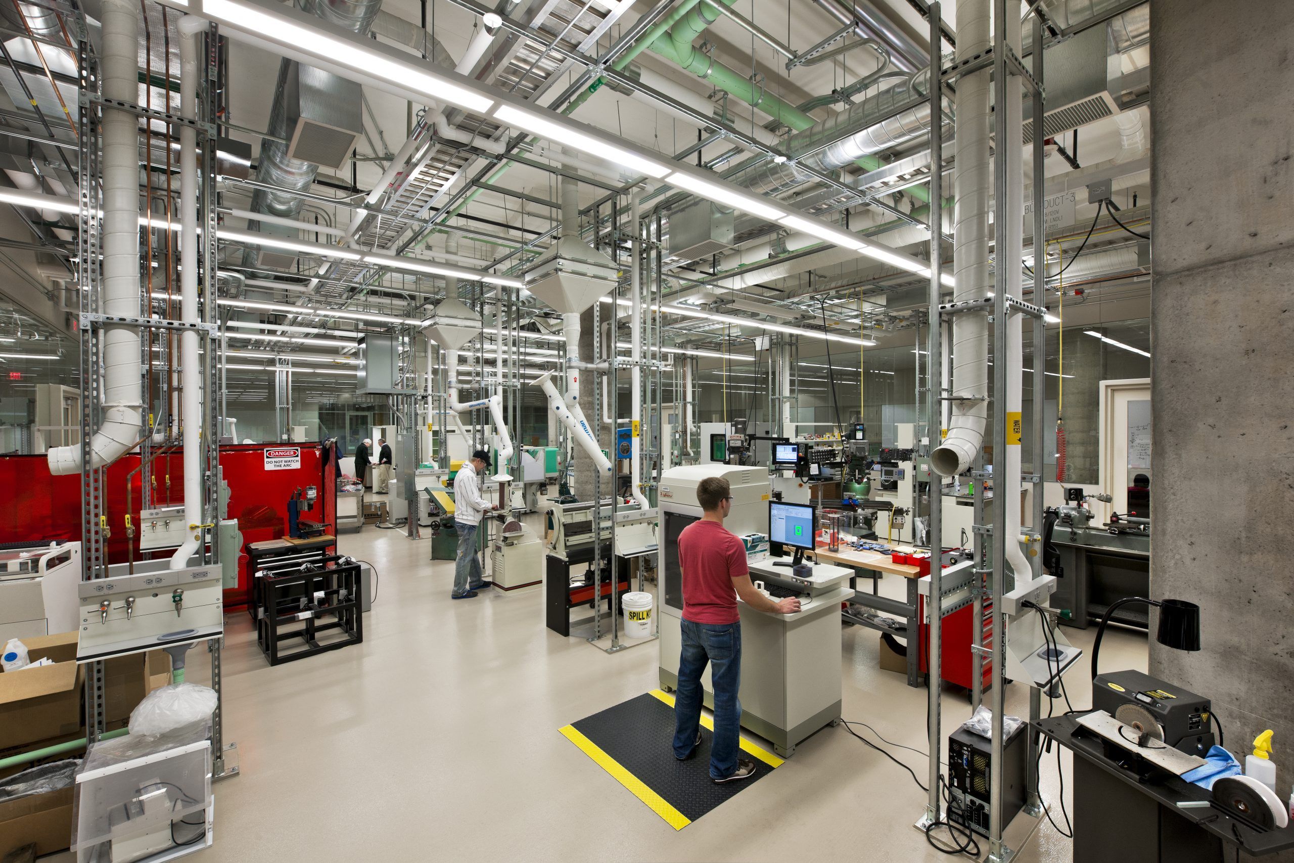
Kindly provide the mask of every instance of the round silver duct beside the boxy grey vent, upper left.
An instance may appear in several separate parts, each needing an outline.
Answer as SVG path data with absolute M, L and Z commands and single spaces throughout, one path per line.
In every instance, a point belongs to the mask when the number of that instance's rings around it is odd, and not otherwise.
M 304 0 L 304 8 L 329 23 L 353 30 L 362 36 L 373 26 L 373 19 L 382 8 L 382 0 Z M 278 85 L 274 89 L 274 105 L 270 109 L 267 128 L 276 137 L 291 138 L 292 136 L 287 116 L 289 83 L 300 72 L 295 60 L 285 58 L 278 66 Z M 333 92 L 338 100 L 358 98 L 360 85 L 353 82 L 316 69 L 311 69 L 308 75 L 316 93 Z M 256 180 L 292 191 L 305 191 L 314 182 L 318 164 L 294 159 L 287 154 L 287 147 L 289 145 L 282 141 L 261 138 Z M 255 212 L 295 219 L 304 203 L 300 195 L 291 191 L 258 189 L 252 195 L 251 208 Z

